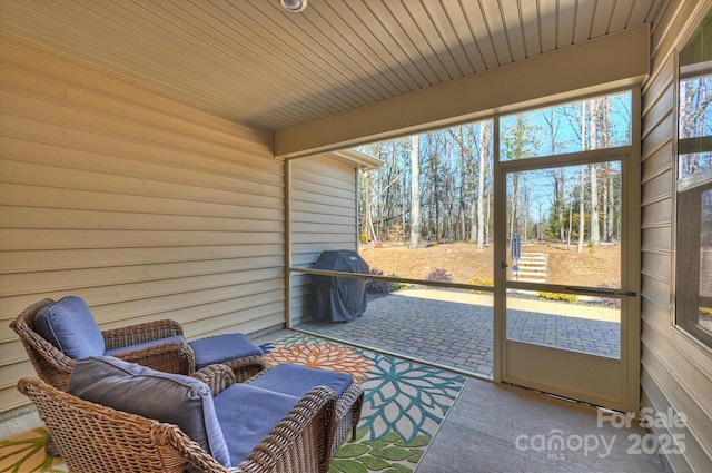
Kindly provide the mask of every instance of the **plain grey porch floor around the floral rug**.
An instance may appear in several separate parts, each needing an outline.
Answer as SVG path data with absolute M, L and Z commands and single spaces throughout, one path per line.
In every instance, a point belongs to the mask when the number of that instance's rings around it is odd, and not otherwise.
M 281 329 L 253 341 L 269 343 L 293 333 Z M 42 425 L 31 406 L 16 414 L 0 418 L 0 438 Z M 631 451 L 635 444 L 630 436 L 644 437 L 647 431 L 635 422 L 616 427 L 600 422 L 600 415 L 590 405 L 469 378 L 415 473 L 671 473 L 661 455 Z M 551 442 L 555 435 L 568 446 L 547 450 L 535 442 L 540 437 Z

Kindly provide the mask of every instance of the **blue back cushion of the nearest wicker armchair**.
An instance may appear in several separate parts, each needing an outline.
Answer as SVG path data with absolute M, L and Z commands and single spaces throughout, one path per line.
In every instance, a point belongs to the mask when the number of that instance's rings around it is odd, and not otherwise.
M 69 392 L 117 411 L 175 424 L 224 466 L 231 465 L 212 395 L 201 381 L 112 356 L 92 356 L 75 365 Z

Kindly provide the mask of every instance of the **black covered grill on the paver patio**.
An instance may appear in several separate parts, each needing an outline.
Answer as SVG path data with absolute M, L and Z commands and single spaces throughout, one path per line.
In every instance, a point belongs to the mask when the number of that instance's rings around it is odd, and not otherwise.
M 368 264 L 350 249 L 323 252 L 314 269 L 369 274 Z M 324 322 L 346 322 L 366 311 L 366 279 L 312 275 L 312 317 Z

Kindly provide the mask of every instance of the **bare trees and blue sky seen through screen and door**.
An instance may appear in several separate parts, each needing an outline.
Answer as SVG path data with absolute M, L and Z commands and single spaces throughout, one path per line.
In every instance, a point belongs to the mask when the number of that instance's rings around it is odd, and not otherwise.
M 626 146 L 631 93 L 502 117 L 500 130 L 501 161 Z M 490 245 L 494 139 L 490 119 L 363 147 L 383 166 L 359 174 L 360 243 Z M 615 161 L 511 173 L 507 239 L 616 242 L 620 190 Z

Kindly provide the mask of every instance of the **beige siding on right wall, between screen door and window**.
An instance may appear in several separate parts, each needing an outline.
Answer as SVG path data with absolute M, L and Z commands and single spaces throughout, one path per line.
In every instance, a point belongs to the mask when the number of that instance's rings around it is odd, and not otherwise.
M 706 6 L 705 6 L 706 4 Z M 679 434 L 683 455 L 668 455 L 676 472 L 712 466 L 712 362 L 710 354 L 671 325 L 673 294 L 673 198 L 675 193 L 674 50 L 712 2 L 673 2 L 653 31 L 652 75 L 643 89 L 642 155 L 642 333 L 643 407 L 682 413 L 686 425 L 656 434 Z

